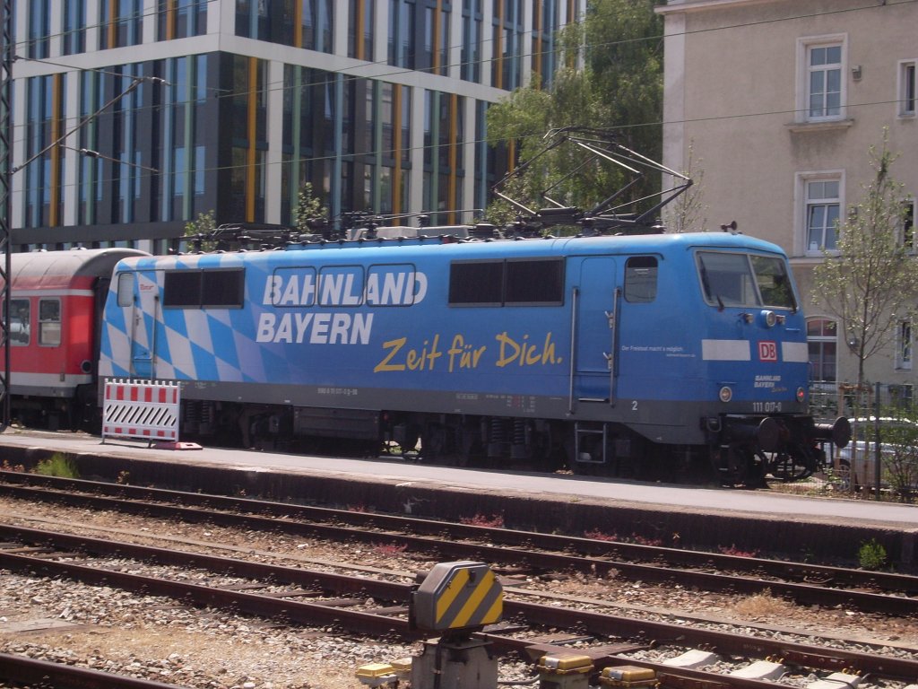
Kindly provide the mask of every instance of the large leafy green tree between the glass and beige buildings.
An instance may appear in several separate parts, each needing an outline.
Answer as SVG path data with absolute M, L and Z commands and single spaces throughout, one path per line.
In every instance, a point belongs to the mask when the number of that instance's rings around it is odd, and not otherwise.
M 663 19 L 654 0 L 595 0 L 584 20 L 559 32 L 559 62 L 550 92 L 526 86 L 487 112 L 492 144 L 515 141 L 521 161 L 533 161 L 508 196 L 537 208 L 540 190 L 551 188 L 561 204 L 589 207 L 624 186 L 628 176 L 614 165 L 580 168 L 582 151 L 558 147 L 539 156 L 549 130 L 584 127 L 612 130 L 622 146 L 659 160 L 662 152 Z M 582 64 L 582 66 L 578 66 Z M 622 200 L 659 191 L 660 176 L 647 175 Z M 519 195 L 519 196 L 515 196 Z M 497 201 L 488 217 L 498 216 Z M 504 209 L 506 213 L 506 209 Z

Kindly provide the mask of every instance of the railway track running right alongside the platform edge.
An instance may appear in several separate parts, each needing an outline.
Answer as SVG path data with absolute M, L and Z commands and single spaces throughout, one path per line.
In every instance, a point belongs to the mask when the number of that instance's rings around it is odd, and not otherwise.
M 153 514 L 297 536 L 364 543 L 476 559 L 498 568 L 576 571 L 702 591 L 770 593 L 798 604 L 855 607 L 890 616 L 918 616 L 918 577 L 890 572 L 677 548 L 540 534 L 481 525 L 447 524 L 403 515 L 368 514 L 200 493 L 0 471 L 0 495 L 96 510 Z

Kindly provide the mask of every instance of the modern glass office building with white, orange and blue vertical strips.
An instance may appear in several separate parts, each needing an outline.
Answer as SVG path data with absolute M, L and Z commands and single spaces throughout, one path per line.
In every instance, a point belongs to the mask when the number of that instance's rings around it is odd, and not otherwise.
M 550 85 L 586 0 L 17 0 L 13 244 L 162 253 L 185 224 L 474 220 L 487 107 Z M 417 224 L 400 220 L 396 224 Z

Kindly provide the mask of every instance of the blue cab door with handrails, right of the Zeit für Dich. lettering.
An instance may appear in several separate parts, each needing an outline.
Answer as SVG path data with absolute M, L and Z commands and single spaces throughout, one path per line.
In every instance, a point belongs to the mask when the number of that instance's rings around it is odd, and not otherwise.
M 611 256 L 579 259 L 574 294 L 576 365 L 572 402 L 615 402 L 619 293 Z

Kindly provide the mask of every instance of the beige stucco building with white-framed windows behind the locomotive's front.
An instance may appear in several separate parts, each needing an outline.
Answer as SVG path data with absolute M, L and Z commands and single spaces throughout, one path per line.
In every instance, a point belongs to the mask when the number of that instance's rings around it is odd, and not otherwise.
M 666 23 L 664 163 L 687 170 L 690 158 L 701 179 L 696 229 L 736 220 L 784 248 L 810 322 L 813 378 L 855 379 L 841 328 L 810 299 L 812 266 L 834 243 L 834 220 L 862 196 L 868 150 L 884 128 L 900 153 L 892 175 L 918 191 L 918 3 L 669 0 L 657 11 Z M 888 356 L 868 361 L 868 379 L 915 382 L 914 329 L 896 330 Z

